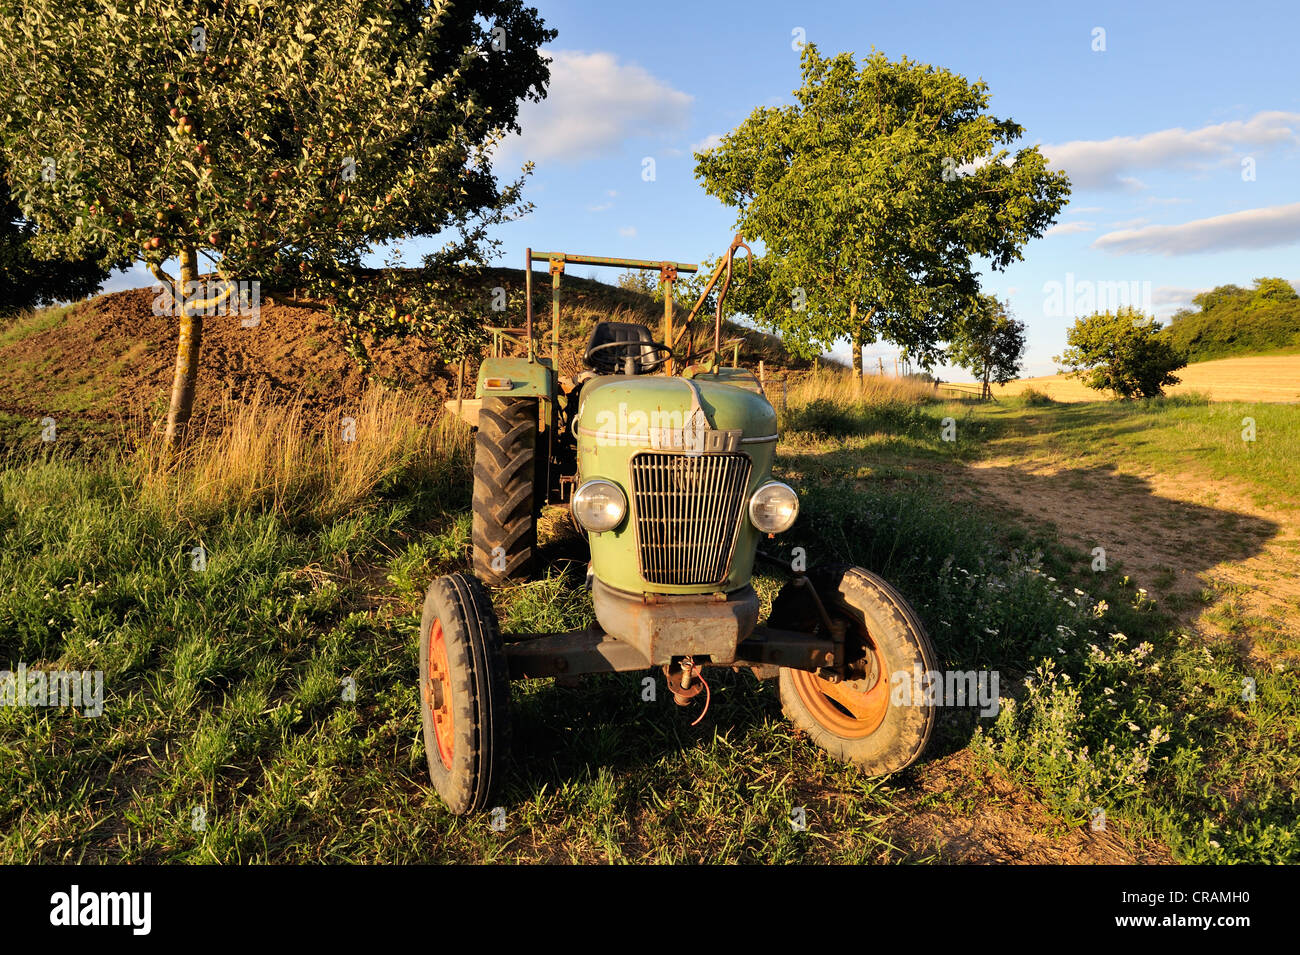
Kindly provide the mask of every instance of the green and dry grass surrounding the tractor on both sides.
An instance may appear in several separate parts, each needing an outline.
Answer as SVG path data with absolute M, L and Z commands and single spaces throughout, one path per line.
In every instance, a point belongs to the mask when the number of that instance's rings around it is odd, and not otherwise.
M 1140 453 L 1176 457 L 1205 407 L 1108 420 L 922 399 L 835 376 L 792 386 L 779 470 L 803 508 L 774 547 L 881 573 L 945 665 L 1001 673 L 1014 702 L 996 721 L 942 711 L 933 758 L 1000 767 L 1062 830 L 1100 807 L 1186 861 L 1300 858 L 1296 676 L 1199 644 L 1127 578 L 1084 576 L 1087 555 L 949 502 L 936 466 L 1026 440 L 1034 416 L 1061 453 L 1153 429 Z M 107 683 L 99 719 L 0 707 L 0 861 L 936 858 L 894 835 L 933 799 L 915 770 L 868 780 L 833 763 L 781 719 L 772 683 L 731 672 L 711 677 L 698 726 L 654 673 L 516 683 L 506 830 L 448 816 L 424 770 L 413 674 L 424 589 L 468 563 L 464 433 L 382 391 L 355 442 L 291 407 L 231 407 L 225 422 L 178 460 L 142 438 L 0 473 L 0 665 Z M 1097 433 L 1069 433 L 1080 425 Z M 590 620 L 581 567 L 547 563 L 494 595 L 504 629 Z M 755 583 L 771 599 L 781 577 Z

